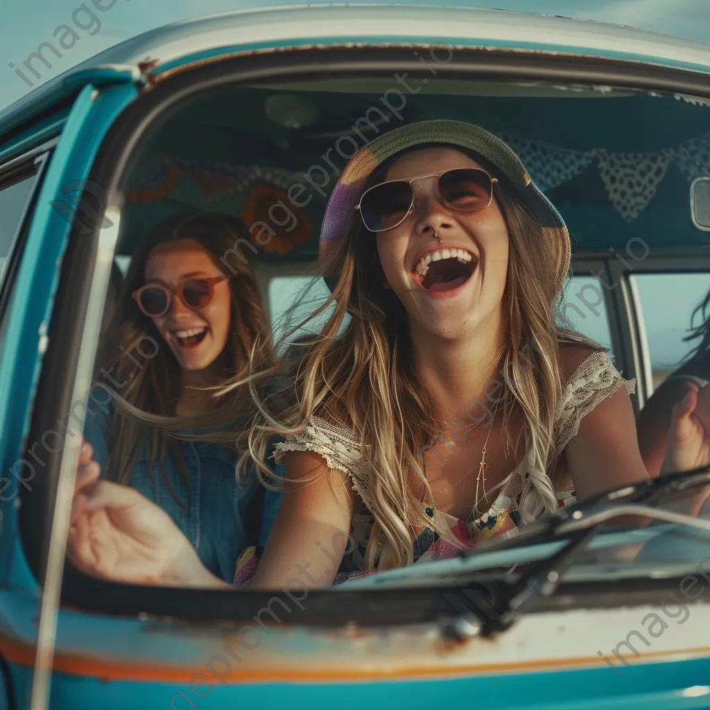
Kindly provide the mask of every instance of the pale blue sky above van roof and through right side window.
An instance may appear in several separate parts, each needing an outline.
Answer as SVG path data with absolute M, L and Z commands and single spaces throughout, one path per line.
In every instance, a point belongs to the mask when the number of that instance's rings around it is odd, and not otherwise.
M 99 0 L 97 0 L 98 2 Z M 399 0 L 400 4 L 416 4 L 420 0 Z M 426 4 L 494 6 L 498 9 L 540 12 L 574 16 L 596 21 L 635 26 L 649 31 L 677 35 L 688 39 L 710 41 L 710 0 L 425 0 Z M 109 6 L 111 0 L 101 0 Z M 79 39 L 72 48 L 62 51 L 61 58 L 51 58 L 52 70 L 42 68 L 42 81 L 70 69 L 100 51 L 122 40 L 171 22 L 210 13 L 249 7 L 304 4 L 304 0 L 115 0 L 114 6 L 99 13 L 87 0 L 102 26 L 94 35 L 95 25 L 87 15 L 80 14 L 79 23 L 87 31 L 77 30 Z M 318 4 L 318 0 L 310 0 Z M 72 25 L 72 13 L 81 0 L 7 0 L 2 11 L 2 42 L 0 43 L 0 109 L 30 91 L 9 67 L 21 66 L 27 56 L 44 41 L 56 42 L 55 28 Z M 689 322 L 692 305 L 710 287 L 710 276 L 692 284 L 682 278 L 666 277 L 662 283 L 640 286 L 645 310 L 646 329 L 656 366 L 670 364 L 682 356 L 687 345 L 682 344 L 684 327 Z M 588 323 L 588 325 L 591 325 Z M 590 333 L 591 334 L 591 333 Z

